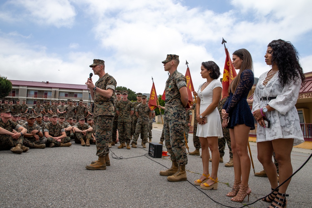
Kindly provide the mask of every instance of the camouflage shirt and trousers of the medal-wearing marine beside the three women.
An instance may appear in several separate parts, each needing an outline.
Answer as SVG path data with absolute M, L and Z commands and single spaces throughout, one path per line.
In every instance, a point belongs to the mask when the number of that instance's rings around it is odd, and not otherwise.
M 185 108 L 181 102 L 179 89 L 186 87 L 186 78 L 175 70 L 166 81 L 164 136 L 167 151 L 172 161 L 180 165 L 188 163 L 184 141 L 184 125 L 186 120 Z

